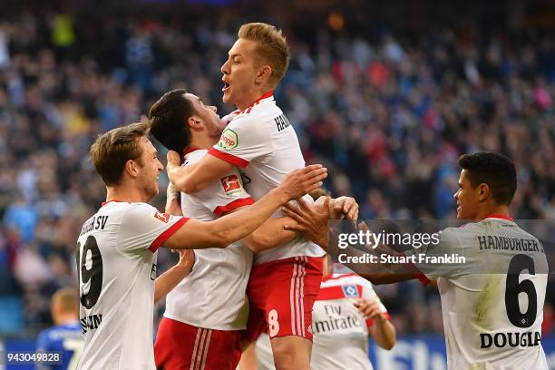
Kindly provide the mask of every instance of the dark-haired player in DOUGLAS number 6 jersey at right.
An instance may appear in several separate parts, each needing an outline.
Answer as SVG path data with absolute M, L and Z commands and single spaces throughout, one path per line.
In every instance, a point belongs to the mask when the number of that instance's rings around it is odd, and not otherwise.
M 417 271 L 399 264 L 350 267 L 375 284 L 437 278 L 450 369 L 547 369 L 541 322 L 548 264 L 540 240 L 509 215 L 517 188 L 514 163 L 498 153 L 478 152 L 461 156 L 459 165 L 457 219 L 471 222 L 443 229 L 439 243 L 415 253 Z M 287 211 L 294 218 L 293 212 L 302 216 L 302 209 Z M 433 265 L 424 259 L 453 253 L 465 262 Z M 376 274 L 377 268 L 389 273 Z

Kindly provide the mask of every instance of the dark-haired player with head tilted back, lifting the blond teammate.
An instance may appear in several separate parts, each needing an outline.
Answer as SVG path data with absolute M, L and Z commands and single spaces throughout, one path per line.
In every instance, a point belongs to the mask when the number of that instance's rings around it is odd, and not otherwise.
M 149 122 L 152 136 L 166 148 L 184 153 L 184 166 L 200 161 L 223 130 L 216 108 L 183 89 L 165 93 L 151 107 Z M 336 208 L 341 201 L 336 200 Z M 233 168 L 204 190 L 181 193 L 180 206 L 175 208 L 186 217 L 211 220 L 253 203 L 239 170 Z M 295 239 L 295 232 L 283 229 L 291 222 L 268 219 L 244 242 L 196 252 L 195 268 L 166 298 L 154 345 L 157 367 L 236 368 L 241 354 L 239 330 L 246 328 L 248 318 L 246 289 L 252 252 L 247 246 L 260 251 Z

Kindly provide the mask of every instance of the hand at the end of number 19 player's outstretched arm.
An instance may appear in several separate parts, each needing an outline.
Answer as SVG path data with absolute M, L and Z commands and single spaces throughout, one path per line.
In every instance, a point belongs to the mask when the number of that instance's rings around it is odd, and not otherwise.
M 289 173 L 279 184 L 277 190 L 283 191 L 287 200 L 297 200 L 308 192 L 322 186 L 327 177 L 327 169 L 321 164 L 312 164 Z

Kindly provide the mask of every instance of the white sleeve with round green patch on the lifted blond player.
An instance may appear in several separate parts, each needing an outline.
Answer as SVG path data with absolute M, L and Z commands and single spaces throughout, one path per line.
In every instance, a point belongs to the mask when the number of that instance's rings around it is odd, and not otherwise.
M 257 116 L 240 115 L 221 133 L 209 154 L 244 169 L 250 161 L 273 151 L 272 137 L 263 120 Z

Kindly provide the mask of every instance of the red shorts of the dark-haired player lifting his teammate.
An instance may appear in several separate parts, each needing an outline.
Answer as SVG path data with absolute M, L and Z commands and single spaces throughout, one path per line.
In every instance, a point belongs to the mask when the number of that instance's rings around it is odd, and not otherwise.
M 239 330 L 212 330 L 161 319 L 154 362 L 164 370 L 235 370 L 241 358 Z

